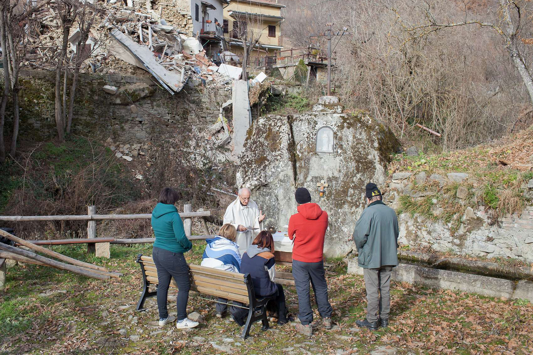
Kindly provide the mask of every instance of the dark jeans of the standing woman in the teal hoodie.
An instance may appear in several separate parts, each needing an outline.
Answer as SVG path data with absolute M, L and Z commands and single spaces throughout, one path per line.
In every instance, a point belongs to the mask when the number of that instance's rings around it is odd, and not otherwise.
M 157 267 L 157 308 L 159 309 L 159 318 L 168 317 L 167 311 L 167 294 L 171 277 L 174 278 L 177 285 L 177 320 L 187 318 L 187 301 L 189 300 L 189 290 L 191 282 L 189 279 L 189 266 L 183 253 L 174 253 L 166 249 L 154 246 L 152 258 Z

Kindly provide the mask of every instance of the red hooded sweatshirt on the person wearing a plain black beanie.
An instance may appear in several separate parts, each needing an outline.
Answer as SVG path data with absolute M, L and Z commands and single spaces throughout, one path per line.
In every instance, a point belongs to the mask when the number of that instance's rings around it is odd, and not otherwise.
M 298 206 L 298 213 L 290 216 L 288 235 L 294 238 L 293 259 L 303 262 L 322 261 L 324 236 L 328 229 L 328 213 L 316 203 Z

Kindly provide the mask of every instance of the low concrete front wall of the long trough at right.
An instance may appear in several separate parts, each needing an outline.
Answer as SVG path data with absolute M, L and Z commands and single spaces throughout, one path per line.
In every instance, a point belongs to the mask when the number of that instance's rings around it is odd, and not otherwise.
M 348 273 L 362 275 L 363 269 L 357 264 L 357 257 L 349 255 Z M 499 278 L 461 271 L 445 270 L 400 263 L 392 269 L 392 280 L 429 287 L 460 290 L 485 296 L 524 299 L 533 302 L 533 282 L 525 279 Z

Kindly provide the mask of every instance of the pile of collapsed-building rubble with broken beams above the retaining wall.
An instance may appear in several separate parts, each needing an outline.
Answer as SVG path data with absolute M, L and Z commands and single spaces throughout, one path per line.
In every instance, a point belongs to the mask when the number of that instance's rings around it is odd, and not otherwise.
M 43 34 L 35 38 L 34 51 L 23 62 L 26 67 L 55 68 L 62 30 L 53 4 L 39 12 Z M 151 73 L 171 94 L 179 92 L 189 79 L 204 86 L 223 86 L 229 85 L 232 78 L 238 79 L 236 73 L 240 76 L 240 68 L 226 64 L 219 72 L 222 63 L 213 63 L 197 38 L 187 36 L 161 18 L 162 7 L 159 11 L 134 9 L 117 1 L 94 2 L 89 6 L 94 23 L 84 49 L 88 56 L 82 72 L 114 73 L 118 58 Z M 79 29 L 70 30 L 67 58 L 76 52 L 80 37 Z

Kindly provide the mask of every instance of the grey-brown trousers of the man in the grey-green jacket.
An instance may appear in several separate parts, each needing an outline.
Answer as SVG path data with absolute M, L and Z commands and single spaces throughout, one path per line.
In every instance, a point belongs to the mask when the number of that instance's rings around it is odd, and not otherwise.
M 374 323 L 379 317 L 389 318 L 391 311 L 391 271 L 392 266 L 379 269 L 363 269 L 367 290 L 367 320 Z M 378 294 L 379 291 L 379 294 Z

